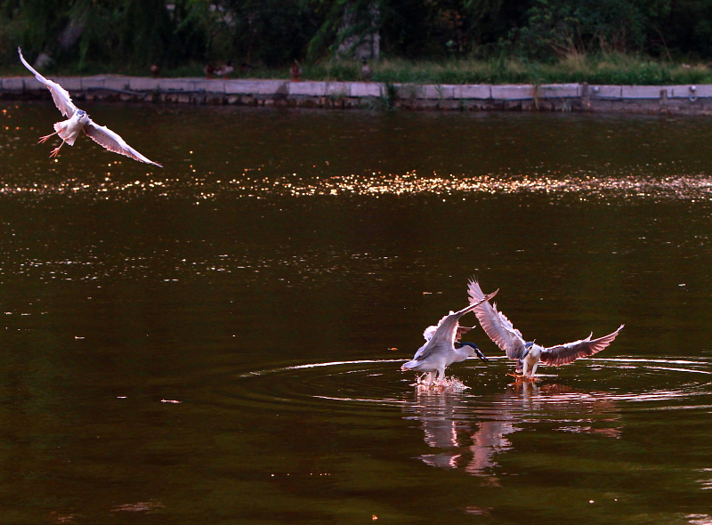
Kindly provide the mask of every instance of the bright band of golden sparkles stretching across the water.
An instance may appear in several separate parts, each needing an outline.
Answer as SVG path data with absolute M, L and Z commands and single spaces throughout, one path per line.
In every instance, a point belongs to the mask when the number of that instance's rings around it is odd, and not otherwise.
M 316 196 L 461 196 L 474 194 L 516 195 L 543 194 L 552 198 L 574 195 L 582 200 L 609 197 L 635 197 L 643 199 L 708 199 L 712 196 L 712 178 L 705 174 L 646 176 L 622 174 L 598 177 L 595 174 L 484 174 L 477 176 L 418 174 L 346 174 L 324 177 L 295 173 L 272 177 L 259 176 L 259 169 L 240 170 L 239 176 L 225 174 L 197 174 L 190 171 L 166 178 L 160 173 L 139 175 L 133 181 L 120 181 L 121 174 L 107 171 L 101 178 L 77 176 L 66 180 L 46 182 L 47 177 L 13 176 L 13 180 L 0 181 L 0 195 L 51 196 L 84 194 L 93 198 L 128 198 L 142 194 L 158 197 L 183 197 L 210 200 L 221 197 L 261 198 L 291 196 L 296 198 Z M 263 173 L 263 172 L 262 172 Z M 221 176 L 222 175 L 222 176 Z

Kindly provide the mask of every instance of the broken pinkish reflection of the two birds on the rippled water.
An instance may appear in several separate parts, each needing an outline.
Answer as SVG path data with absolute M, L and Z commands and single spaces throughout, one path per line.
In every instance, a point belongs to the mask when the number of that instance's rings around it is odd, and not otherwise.
M 604 393 L 561 384 L 512 384 L 506 392 L 473 397 L 463 389 L 409 393 L 406 419 L 420 422 L 436 454 L 418 456 L 425 464 L 461 469 L 498 485 L 498 456 L 514 448 L 510 434 L 536 424 L 557 424 L 554 431 L 620 434 L 619 408 Z

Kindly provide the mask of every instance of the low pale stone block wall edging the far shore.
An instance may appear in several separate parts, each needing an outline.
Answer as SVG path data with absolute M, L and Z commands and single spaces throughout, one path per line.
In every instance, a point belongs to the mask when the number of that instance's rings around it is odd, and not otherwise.
M 52 77 L 77 101 L 302 108 L 712 114 L 712 85 L 417 85 L 288 80 Z M 4 100 L 48 99 L 34 77 L 0 78 Z

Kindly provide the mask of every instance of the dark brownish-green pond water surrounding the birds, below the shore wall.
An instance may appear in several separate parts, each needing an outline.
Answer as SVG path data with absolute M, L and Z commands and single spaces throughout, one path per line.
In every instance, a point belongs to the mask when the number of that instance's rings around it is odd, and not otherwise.
M 165 168 L 0 106 L 3 523 L 712 523 L 708 119 L 83 109 Z M 416 392 L 471 275 L 626 327 Z

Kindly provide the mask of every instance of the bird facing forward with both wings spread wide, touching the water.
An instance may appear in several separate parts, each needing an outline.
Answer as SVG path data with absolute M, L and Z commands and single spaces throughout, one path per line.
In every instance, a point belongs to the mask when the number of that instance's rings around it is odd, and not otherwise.
M 477 305 L 474 308 L 474 315 L 480 320 L 482 329 L 500 349 L 506 351 L 506 357 L 517 361 L 514 376 L 518 379 L 522 377 L 533 379 L 539 363 L 558 367 L 578 358 L 594 355 L 611 344 L 625 326 L 620 325 L 615 332 L 598 339 L 591 339 L 594 335 L 591 332 L 586 339 L 545 348 L 533 341 L 524 341 L 522 332 L 512 326 L 512 322 L 504 313 L 497 310 L 497 306 L 482 301 L 484 294 L 476 280 L 470 279 L 467 292 L 470 295 L 470 303 Z

